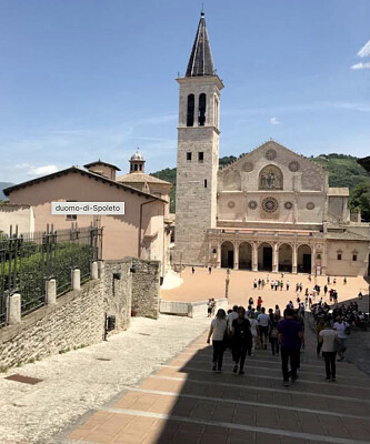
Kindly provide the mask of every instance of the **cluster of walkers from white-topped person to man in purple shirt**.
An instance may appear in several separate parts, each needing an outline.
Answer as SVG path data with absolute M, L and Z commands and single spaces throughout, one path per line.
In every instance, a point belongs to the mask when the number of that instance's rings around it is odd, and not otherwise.
M 300 351 L 304 347 L 303 312 L 300 307 L 294 310 L 290 302 L 281 316 L 278 305 L 267 313 L 260 297 L 256 309 L 251 302 L 248 310 L 234 305 L 228 314 L 219 309 L 211 321 L 207 342 L 210 343 L 212 336 L 212 371 L 222 371 L 224 351 L 230 349 L 232 372 L 243 375 L 247 355 L 251 356 L 258 349 L 267 350 L 270 344 L 272 355 L 281 355 L 283 385 L 289 386 L 290 379 L 292 382 L 298 379 Z

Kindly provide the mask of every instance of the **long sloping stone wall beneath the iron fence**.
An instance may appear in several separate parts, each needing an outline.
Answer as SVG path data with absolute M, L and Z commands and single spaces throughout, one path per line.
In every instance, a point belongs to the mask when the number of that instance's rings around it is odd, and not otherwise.
M 20 324 L 0 330 L 0 367 L 102 341 L 103 313 L 99 280 L 60 296 L 57 304 L 42 306 Z

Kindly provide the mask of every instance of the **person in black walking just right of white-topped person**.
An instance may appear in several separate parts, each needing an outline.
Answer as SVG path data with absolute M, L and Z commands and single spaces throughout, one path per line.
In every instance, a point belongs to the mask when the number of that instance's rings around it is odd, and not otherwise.
M 232 322 L 232 350 L 233 350 L 233 359 L 234 359 L 234 367 L 233 373 L 238 372 L 239 360 L 239 374 L 244 374 L 244 362 L 247 353 L 250 355 L 252 351 L 252 333 L 250 331 L 250 323 L 244 317 L 246 309 L 243 306 L 239 306 L 238 309 L 238 317 Z

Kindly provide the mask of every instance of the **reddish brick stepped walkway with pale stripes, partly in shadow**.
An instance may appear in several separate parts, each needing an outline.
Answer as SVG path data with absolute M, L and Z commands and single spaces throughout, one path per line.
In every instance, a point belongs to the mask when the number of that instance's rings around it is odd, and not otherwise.
M 110 444 L 370 444 L 370 379 L 337 364 L 324 381 L 308 329 L 299 380 L 282 386 L 280 359 L 249 357 L 246 375 L 210 371 L 206 333 L 136 386 L 91 411 L 52 443 Z

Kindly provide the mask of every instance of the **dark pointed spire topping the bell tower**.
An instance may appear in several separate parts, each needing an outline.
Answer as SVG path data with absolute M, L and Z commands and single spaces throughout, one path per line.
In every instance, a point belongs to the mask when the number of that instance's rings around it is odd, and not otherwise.
M 197 36 L 192 46 L 186 77 L 198 75 L 214 75 L 214 67 L 207 33 L 203 8 L 200 13 Z

